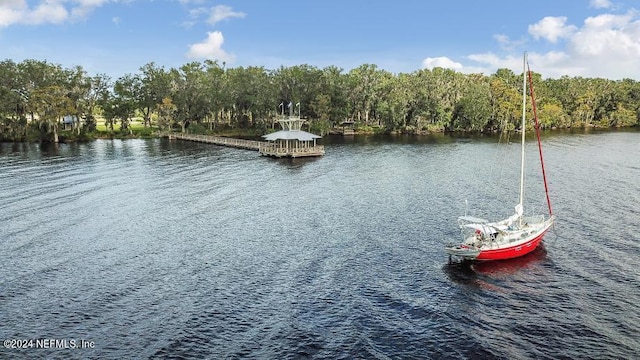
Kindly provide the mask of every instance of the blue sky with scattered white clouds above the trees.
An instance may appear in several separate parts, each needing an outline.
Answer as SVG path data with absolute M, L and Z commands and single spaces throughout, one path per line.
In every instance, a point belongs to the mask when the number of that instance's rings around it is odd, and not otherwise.
M 638 0 L 0 0 L 0 60 L 113 78 L 147 63 L 640 80 Z

